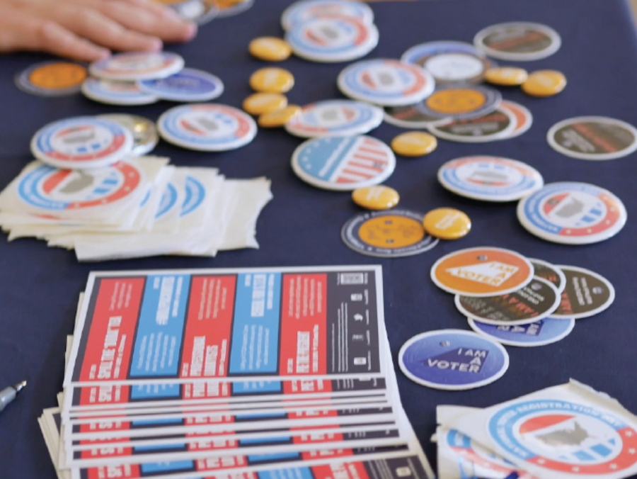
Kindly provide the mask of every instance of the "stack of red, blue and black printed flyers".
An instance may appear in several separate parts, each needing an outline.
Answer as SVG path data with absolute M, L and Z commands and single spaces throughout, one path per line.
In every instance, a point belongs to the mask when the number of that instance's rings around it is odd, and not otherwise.
M 380 266 L 94 272 L 60 478 L 431 479 L 398 395 Z

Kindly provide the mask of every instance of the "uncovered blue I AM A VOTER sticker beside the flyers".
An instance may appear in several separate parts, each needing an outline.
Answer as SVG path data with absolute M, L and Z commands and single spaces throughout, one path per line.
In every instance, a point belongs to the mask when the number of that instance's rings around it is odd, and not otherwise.
M 428 388 L 466 390 L 501 378 L 509 355 L 501 344 L 461 329 L 423 332 L 398 352 L 401 370 Z

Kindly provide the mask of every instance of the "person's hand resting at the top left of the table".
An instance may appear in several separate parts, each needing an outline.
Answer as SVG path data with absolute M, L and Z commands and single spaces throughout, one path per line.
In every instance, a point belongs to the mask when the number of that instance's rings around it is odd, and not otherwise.
M 0 53 L 49 52 L 92 62 L 110 50 L 158 51 L 197 27 L 154 0 L 0 0 Z

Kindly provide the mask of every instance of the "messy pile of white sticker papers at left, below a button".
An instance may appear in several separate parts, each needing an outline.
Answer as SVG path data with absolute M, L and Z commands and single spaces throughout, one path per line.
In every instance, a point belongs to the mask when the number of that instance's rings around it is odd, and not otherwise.
M 214 256 L 258 247 L 256 221 L 271 198 L 268 179 L 226 180 L 166 158 L 74 170 L 34 161 L 0 193 L 0 225 L 9 240 L 45 239 L 79 261 Z

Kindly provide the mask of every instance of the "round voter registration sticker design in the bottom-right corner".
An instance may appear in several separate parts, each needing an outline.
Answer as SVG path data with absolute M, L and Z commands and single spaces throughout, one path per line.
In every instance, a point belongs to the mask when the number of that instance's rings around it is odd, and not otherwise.
M 487 431 L 507 458 L 541 477 L 607 479 L 636 472 L 637 430 L 595 405 L 512 401 L 488 419 Z

